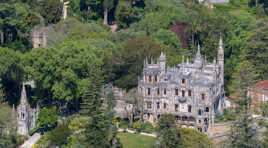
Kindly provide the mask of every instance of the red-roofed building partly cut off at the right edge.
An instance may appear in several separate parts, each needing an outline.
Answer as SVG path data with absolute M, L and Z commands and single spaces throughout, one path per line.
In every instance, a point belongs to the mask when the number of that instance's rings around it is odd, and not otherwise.
M 263 102 L 268 102 L 268 80 L 254 84 L 248 95 L 252 99 L 254 109 L 258 109 Z

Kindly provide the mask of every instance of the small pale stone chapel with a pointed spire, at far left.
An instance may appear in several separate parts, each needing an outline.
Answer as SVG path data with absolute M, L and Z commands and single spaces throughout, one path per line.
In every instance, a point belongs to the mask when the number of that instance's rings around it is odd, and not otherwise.
M 28 135 L 29 131 L 33 129 L 36 125 L 36 121 L 38 118 L 39 106 L 36 108 L 31 108 L 27 102 L 26 88 L 25 85 L 30 84 L 32 82 L 23 82 L 20 105 L 17 108 L 18 116 L 17 116 L 17 132 L 20 135 Z

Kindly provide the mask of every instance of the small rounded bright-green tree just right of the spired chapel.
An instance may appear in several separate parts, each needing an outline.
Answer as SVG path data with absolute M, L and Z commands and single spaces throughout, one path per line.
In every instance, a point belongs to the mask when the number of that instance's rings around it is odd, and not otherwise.
M 36 129 L 41 132 L 49 131 L 57 126 L 57 120 L 56 108 L 43 108 L 38 113 Z

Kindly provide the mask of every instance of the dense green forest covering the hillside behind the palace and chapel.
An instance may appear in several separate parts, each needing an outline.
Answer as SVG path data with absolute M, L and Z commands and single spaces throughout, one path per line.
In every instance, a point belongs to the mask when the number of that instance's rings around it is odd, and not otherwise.
M 67 1 L 68 17 L 62 19 Z M 268 78 L 267 15 L 266 0 L 230 0 L 214 8 L 195 0 L 1 0 L 0 109 L 16 107 L 22 82 L 34 80 L 36 88 L 27 87 L 28 101 L 44 108 L 40 112 L 44 118 L 54 117 L 51 123 L 40 119 L 35 130 L 50 131 L 41 142 L 121 147 L 113 122 L 113 96 L 100 100 L 104 84 L 127 91 L 135 88 L 144 59 L 156 60 L 161 52 L 167 54 L 168 65 L 175 66 L 183 55 L 191 60 L 200 45 L 206 59 L 213 61 L 221 36 L 225 93 L 233 94 L 245 67 L 254 72 L 248 76 L 253 82 Z M 46 34 L 46 46 L 33 49 L 35 29 Z M 66 104 L 68 113 L 80 112 L 81 117 L 57 126 L 59 108 Z M 77 132 L 82 127 L 85 132 Z M 1 136 L 5 135 L 0 134 L 0 147 L 19 141 L 15 134 Z

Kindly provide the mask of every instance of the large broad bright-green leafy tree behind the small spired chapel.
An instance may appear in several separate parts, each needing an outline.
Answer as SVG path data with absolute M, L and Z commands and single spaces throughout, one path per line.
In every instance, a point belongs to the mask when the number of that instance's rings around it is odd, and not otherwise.
M 66 41 L 57 48 L 48 47 L 27 54 L 25 69 L 31 79 L 36 81 L 38 101 L 50 105 L 53 102 L 69 103 L 78 111 L 85 85 L 93 73 L 103 75 L 103 53 L 87 40 Z M 93 70 L 94 69 L 94 70 Z M 87 75 L 90 72 L 90 75 Z

